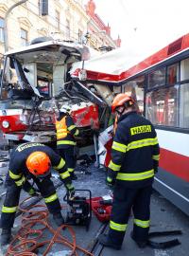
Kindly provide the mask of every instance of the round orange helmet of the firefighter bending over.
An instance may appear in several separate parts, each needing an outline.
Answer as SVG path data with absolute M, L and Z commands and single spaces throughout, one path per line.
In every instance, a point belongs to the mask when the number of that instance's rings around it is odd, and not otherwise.
M 35 176 L 46 176 L 49 174 L 50 166 L 50 158 L 41 151 L 33 152 L 26 158 L 26 167 Z

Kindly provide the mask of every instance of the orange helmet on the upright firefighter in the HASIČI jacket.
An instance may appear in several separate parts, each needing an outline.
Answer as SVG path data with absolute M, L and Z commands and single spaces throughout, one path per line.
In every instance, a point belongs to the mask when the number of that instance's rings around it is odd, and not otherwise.
M 123 106 L 126 102 L 129 102 L 129 105 L 134 104 L 134 100 L 126 93 L 120 93 L 115 96 L 112 101 L 112 113 L 115 112 L 117 107 Z

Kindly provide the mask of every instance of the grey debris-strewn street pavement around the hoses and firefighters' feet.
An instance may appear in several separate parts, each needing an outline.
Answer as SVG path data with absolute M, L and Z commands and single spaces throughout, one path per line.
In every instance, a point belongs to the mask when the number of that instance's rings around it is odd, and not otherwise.
M 6 168 L 4 168 L 4 172 Z M 1 174 L 2 168 L 0 168 Z M 8 170 L 8 168 L 7 168 Z M 87 166 L 77 166 L 77 180 L 73 181 L 76 189 L 88 189 L 92 191 L 92 196 L 103 196 L 111 194 L 112 192 L 105 185 L 105 175 L 106 172 L 103 169 L 98 169 L 94 166 L 94 164 Z M 54 183 L 58 182 L 57 174 L 54 174 L 53 181 Z M 4 192 L 5 188 L 3 185 L 0 186 L 0 192 Z M 57 190 L 60 198 L 60 202 L 65 206 L 65 202 L 63 201 L 63 196 L 65 194 L 64 186 L 60 186 Z M 21 200 L 26 198 L 26 192 L 22 192 Z M 43 201 L 42 201 L 43 202 Z M 42 203 L 40 202 L 40 204 Z M 0 207 L 3 203 L 3 200 L 0 200 Z M 63 216 L 66 215 L 66 209 L 62 210 Z M 51 216 L 49 217 L 49 222 L 55 227 Z M 13 233 L 16 233 L 17 230 L 21 226 L 21 216 L 17 217 L 15 220 L 15 226 L 13 229 Z M 99 233 L 99 229 L 102 228 L 102 223 L 100 223 L 96 217 L 92 216 L 92 221 L 89 230 L 87 231 L 85 227 L 76 227 L 73 229 L 76 233 L 77 245 L 79 247 L 83 247 L 89 249 L 93 247 L 94 240 Z M 55 227 L 56 229 L 56 227 Z M 129 237 L 130 230 L 132 229 L 132 216 L 129 220 L 129 227 L 126 232 L 125 240 L 123 243 L 123 247 L 121 250 L 113 250 L 108 247 L 102 248 L 100 253 L 94 254 L 94 256 L 187 256 L 189 255 L 189 217 L 182 213 L 179 209 L 169 203 L 161 194 L 158 192 L 153 192 L 151 198 L 151 227 L 150 231 L 164 231 L 164 230 L 173 230 L 180 229 L 182 231 L 182 235 L 180 236 L 170 236 L 163 237 L 159 239 L 155 239 L 154 241 L 167 241 L 174 238 L 179 238 L 180 246 L 171 247 L 169 249 L 153 249 L 151 247 L 146 247 L 144 249 L 138 248 L 134 241 Z M 64 235 L 69 236 L 64 232 Z M 52 236 L 49 232 L 44 233 L 46 239 L 49 239 Z M 6 249 L 2 249 L 0 255 L 6 255 Z M 43 255 L 43 248 L 40 248 L 38 254 Z M 60 244 L 56 244 L 52 247 L 52 250 L 49 255 L 70 255 L 70 250 L 66 247 L 60 246 Z M 78 251 L 78 256 L 83 256 L 82 252 Z

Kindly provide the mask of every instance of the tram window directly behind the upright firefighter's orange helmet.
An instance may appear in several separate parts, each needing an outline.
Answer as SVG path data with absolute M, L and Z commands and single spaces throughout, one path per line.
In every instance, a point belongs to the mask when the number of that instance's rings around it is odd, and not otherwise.
M 128 93 L 137 101 L 142 114 L 144 113 L 144 86 L 145 76 L 138 77 L 123 85 L 123 92 Z

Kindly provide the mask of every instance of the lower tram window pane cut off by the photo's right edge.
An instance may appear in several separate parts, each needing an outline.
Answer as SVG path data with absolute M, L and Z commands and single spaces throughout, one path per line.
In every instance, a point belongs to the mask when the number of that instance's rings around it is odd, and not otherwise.
M 189 128 L 189 83 L 180 85 L 180 127 Z

